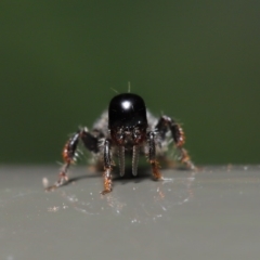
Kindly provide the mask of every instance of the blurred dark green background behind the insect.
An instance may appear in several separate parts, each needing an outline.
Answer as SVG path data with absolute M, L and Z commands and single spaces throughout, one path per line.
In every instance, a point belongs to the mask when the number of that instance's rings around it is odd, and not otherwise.
M 260 1 L 1 0 L 0 34 L 1 164 L 61 160 L 128 81 L 196 164 L 260 161 Z

